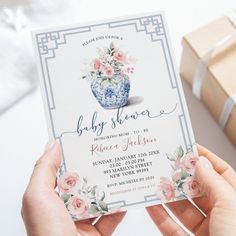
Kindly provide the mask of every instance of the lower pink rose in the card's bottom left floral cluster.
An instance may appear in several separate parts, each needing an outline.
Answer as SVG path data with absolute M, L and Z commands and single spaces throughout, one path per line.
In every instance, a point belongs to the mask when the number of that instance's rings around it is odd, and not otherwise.
M 85 217 L 88 215 L 90 201 L 85 196 L 72 196 L 67 206 L 71 215 L 78 215 Z

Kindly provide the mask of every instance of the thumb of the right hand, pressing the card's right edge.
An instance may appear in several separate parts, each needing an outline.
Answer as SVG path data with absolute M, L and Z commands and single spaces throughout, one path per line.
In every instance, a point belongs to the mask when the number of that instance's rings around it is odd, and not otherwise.
M 202 192 L 210 198 L 213 205 L 217 202 L 234 201 L 235 191 L 232 186 L 218 174 L 205 157 L 199 157 L 196 165 L 196 179 Z

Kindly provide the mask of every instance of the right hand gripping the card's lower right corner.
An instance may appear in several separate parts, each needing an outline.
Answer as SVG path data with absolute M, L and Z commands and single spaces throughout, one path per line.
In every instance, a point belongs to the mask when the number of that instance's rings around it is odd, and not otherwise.
M 198 152 L 203 157 L 200 157 L 196 166 L 196 178 L 206 196 L 193 201 L 202 212 L 188 200 L 167 203 L 165 206 L 197 236 L 234 236 L 236 173 L 230 165 L 206 148 L 198 145 Z M 147 207 L 147 211 L 163 235 L 188 235 L 162 205 Z

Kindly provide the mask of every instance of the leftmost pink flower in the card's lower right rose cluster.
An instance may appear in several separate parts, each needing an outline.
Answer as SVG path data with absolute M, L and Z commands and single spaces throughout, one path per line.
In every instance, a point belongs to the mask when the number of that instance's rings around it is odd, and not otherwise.
M 157 186 L 156 195 L 162 201 L 170 201 L 175 198 L 175 186 L 168 178 L 161 178 Z

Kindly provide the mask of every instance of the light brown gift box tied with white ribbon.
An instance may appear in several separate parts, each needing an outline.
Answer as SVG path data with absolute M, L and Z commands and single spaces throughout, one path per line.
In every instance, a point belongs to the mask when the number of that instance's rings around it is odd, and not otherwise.
M 180 75 L 236 146 L 236 12 L 183 37 Z

